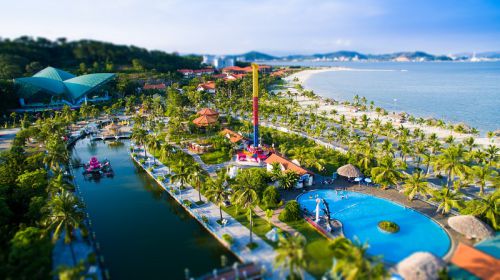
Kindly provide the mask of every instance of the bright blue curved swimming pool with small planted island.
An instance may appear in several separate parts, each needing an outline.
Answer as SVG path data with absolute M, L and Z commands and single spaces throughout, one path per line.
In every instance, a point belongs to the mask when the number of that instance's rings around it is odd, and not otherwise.
M 418 251 L 443 257 L 450 248 L 451 241 L 444 229 L 415 210 L 350 191 L 315 190 L 300 195 L 297 201 L 301 208 L 314 212 L 316 195 L 328 202 L 331 217 L 342 222 L 347 238 L 357 237 L 361 242 L 368 242 L 368 253 L 383 255 L 385 262 L 397 263 Z M 397 223 L 399 232 L 381 231 L 377 224 L 382 220 Z

